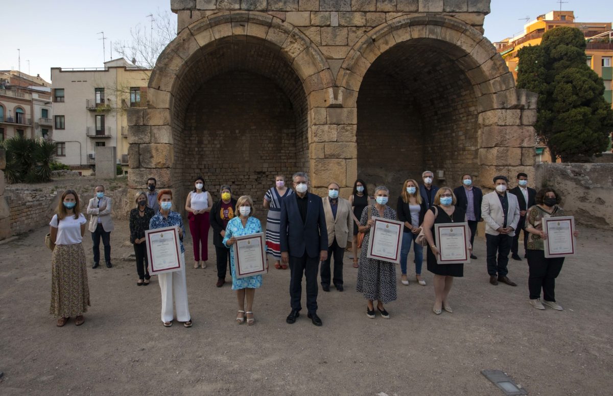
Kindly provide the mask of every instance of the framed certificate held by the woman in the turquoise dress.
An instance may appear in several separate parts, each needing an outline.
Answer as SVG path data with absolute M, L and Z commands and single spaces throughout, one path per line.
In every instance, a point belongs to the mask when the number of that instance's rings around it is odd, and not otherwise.
M 234 271 L 237 278 L 266 273 L 264 233 L 234 237 Z

